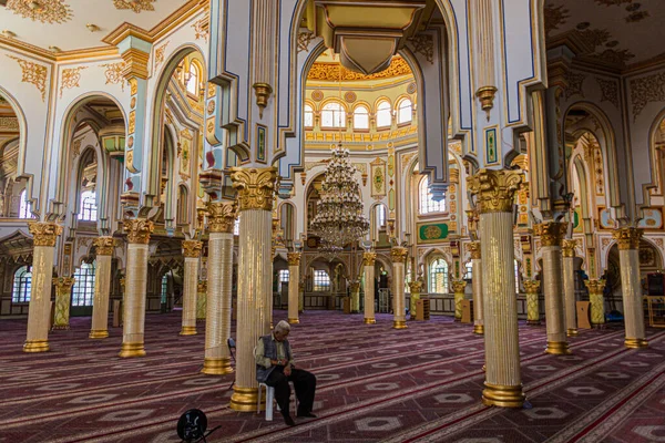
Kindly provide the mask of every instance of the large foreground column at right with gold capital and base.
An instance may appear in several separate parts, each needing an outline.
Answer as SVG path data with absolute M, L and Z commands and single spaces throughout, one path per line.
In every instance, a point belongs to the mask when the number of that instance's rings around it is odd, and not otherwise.
M 521 408 L 518 300 L 515 297 L 513 197 L 522 175 L 514 171 L 481 169 L 468 178 L 480 209 L 483 260 L 482 292 L 485 341 L 485 405 Z

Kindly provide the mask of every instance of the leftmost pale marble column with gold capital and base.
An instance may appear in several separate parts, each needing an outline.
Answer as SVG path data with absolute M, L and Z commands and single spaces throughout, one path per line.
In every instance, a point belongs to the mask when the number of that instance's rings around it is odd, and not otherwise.
M 49 326 L 51 318 L 51 285 L 53 278 L 53 256 L 55 240 L 62 234 L 62 226 L 54 223 L 32 222 L 28 224 L 32 234 L 32 288 L 28 310 L 28 333 L 24 352 L 49 350 Z

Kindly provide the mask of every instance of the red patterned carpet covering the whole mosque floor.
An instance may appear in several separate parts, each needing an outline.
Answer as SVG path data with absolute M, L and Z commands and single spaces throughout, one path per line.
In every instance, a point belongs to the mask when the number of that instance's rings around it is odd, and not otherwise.
M 275 321 L 286 318 L 275 312 Z M 621 326 L 581 331 L 573 354 L 543 353 L 544 327 L 520 324 L 530 409 L 487 408 L 482 337 L 437 317 L 390 328 L 361 316 L 307 311 L 290 341 L 318 378 L 315 412 L 287 427 L 277 413 L 227 408 L 233 375 L 198 373 L 204 327 L 178 336 L 178 313 L 145 321 L 147 357 L 120 359 L 121 331 L 89 340 L 90 318 L 24 354 L 25 320 L 0 321 L 0 442 L 180 442 L 178 416 L 203 410 L 209 442 L 658 442 L 665 441 L 665 331 L 623 347 Z

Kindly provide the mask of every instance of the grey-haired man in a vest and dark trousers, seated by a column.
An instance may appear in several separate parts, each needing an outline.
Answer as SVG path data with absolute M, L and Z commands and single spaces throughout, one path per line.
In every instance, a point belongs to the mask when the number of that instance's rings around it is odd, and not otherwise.
M 295 426 L 296 423 L 288 409 L 290 399 L 288 382 L 293 381 L 296 389 L 298 416 L 316 418 L 311 413 L 316 377 L 303 369 L 295 368 L 290 344 L 286 339 L 289 332 L 290 326 L 286 321 L 278 322 L 272 334 L 258 339 L 254 358 L 256 360 L 256 380 L 275 388 L 275 399 L 279 404 L 285 423 Z

